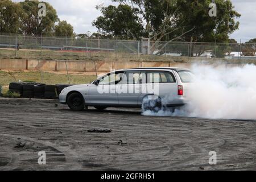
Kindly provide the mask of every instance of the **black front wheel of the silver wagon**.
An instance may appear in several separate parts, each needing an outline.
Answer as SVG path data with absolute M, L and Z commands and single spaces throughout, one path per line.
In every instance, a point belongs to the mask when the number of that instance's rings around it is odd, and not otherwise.
M 82 111 L 85 107 L 84 98 L 80 93 L 72 93 L 67 98 L 67 104 L 71 110 Z

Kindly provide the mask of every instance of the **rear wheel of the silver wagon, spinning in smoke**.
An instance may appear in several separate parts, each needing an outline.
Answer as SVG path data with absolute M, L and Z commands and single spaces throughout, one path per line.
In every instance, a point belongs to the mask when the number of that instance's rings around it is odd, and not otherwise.
M 163 109 L 161 98 L 155 98 L 154 100 L 149 99 L 149 96 L 143 98 L 142 101 L 142 111 L 153 111 L 157 113 L 159 110 Z

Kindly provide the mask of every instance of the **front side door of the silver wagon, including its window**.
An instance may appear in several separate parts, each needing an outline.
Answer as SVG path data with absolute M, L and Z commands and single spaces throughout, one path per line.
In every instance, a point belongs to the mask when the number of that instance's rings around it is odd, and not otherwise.
M 118 105 L 117 83 L 122 75 L 123 72 L 112 72 L 95 81 L 89 89 L 88 105 Z

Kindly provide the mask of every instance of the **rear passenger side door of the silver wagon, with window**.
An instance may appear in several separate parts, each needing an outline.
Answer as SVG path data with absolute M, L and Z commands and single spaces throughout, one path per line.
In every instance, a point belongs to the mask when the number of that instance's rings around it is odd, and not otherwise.
M 146 79 L 142 84 L 142 71 L 126 71 L 123 75 L 122 82 L 118 84 L 118 101 L 119 105 L 137 106 L 138 98 L 144 92 Z M 144 74 L 146 77 L 146 74 Z

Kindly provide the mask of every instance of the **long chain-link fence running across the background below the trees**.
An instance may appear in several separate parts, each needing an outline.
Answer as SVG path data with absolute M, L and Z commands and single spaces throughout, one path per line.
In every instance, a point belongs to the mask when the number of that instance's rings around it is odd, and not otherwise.
M 122 60 L 124 58 L 138 59 L 142 55 L 237 59 L 248 56 L 255 57 L 255 44 L 152 42 L 149 39 L 130 41 L 0 35 L 0 58 Z

